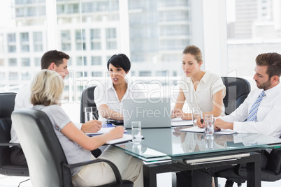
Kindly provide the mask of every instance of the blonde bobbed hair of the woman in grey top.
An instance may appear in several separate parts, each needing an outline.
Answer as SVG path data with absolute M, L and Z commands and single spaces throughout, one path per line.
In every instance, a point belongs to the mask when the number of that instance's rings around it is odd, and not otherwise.
M 32 105 L 57 105 L 64 90 L 64 80 L 53 70 L 41 70 L 31 84 Z

